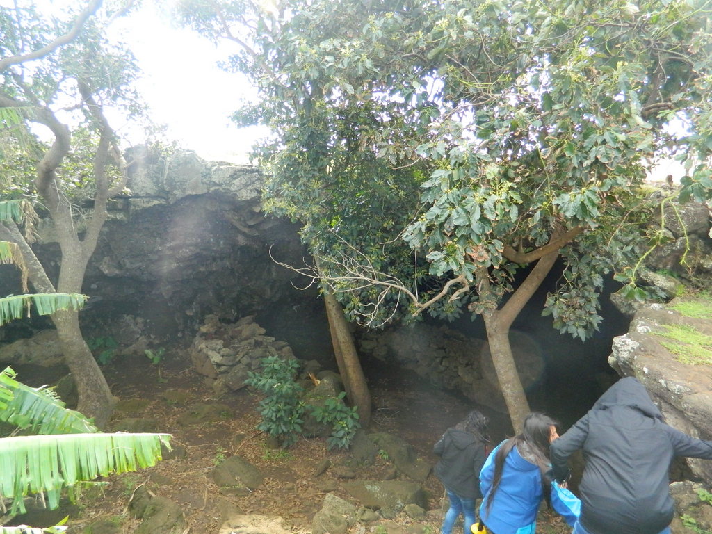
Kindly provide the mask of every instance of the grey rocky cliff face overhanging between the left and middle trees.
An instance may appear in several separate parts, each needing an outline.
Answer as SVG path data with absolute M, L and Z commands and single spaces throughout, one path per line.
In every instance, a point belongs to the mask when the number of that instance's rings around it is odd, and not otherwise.
M 253 167 L 204 162 L 192 152 L 162 159 L 131 155 L 130 194 L 112 203 L 85 278 L 87 337 L 130 344 L 142 331 L 157 341 L 192 333 L 202 318 L 259 313 L 275 303 L 313 298 L 278 266 L 301 263 L 298 227 L 265 216 Z M 56 254 L 51 228 L 41 254 Z

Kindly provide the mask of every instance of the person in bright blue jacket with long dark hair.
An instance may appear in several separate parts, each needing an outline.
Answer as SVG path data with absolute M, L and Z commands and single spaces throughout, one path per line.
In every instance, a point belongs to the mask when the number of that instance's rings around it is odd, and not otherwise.
M 558 436 L 556 422 L 534 412 L 524 419 L 521 434 L 488 456 L 480 472 L 480 524 L 489 534 L 534 534 L 541 501 L 574 525 L 581 503 L 550 476 L 549 445 Z

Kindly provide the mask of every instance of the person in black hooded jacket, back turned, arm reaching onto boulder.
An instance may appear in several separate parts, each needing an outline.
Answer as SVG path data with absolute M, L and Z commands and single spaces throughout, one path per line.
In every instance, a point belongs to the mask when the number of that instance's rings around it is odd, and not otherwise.
M 675 456 L 712 459 L 712 441 L 665 424 L 643 384 L 627 377 L 551 444 L 553 475 L 583 449 L 581 515 L 572 534 L 668 534 L 674 503 L 668 470 Z

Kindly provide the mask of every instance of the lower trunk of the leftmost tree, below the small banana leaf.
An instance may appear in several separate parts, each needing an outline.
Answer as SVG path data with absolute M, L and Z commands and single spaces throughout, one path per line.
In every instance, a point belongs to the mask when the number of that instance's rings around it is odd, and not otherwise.
M 69 367 L 79 394 L 78 411 L 93 417 L 94 424 L 103 429 L 116 404 L 109 385 L 94 359 L 79 329 L 79 313 L 65 310 L 52 315 L 64 359 Z

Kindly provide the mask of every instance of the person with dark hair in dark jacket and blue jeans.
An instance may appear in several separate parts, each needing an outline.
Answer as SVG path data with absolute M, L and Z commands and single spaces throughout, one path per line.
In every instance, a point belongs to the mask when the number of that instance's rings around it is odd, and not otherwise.
M 479 473 L 487 457 L 486 416 L 472 410 L 461 422 L 445 431 L 434 445 L 440 456 L 435 474 L 445 486 L 450 508 L 445 514 L 441 534 L 451 534 L 455 520 L 464 517 L 464 531 L 470 533 L 475 522 L 475 499 L 481 497 Z

